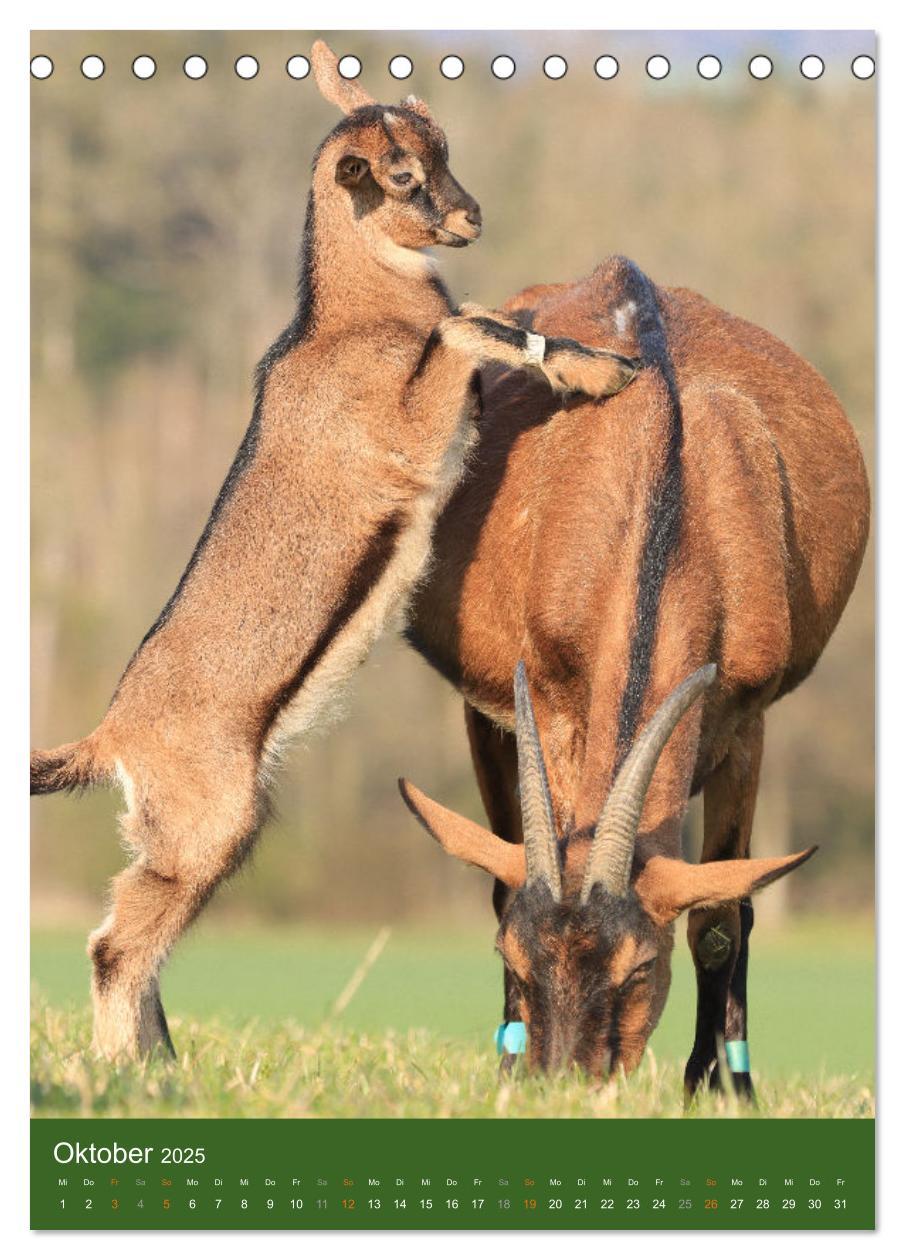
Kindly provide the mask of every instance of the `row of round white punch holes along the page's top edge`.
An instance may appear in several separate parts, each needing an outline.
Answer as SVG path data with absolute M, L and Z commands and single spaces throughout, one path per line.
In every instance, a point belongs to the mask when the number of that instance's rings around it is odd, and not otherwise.
M 87 79 L 98 79 L 106 71 L 106 64 L 102 57 L 83 57 L 79 66 L 82 74 Z M 208 63 L 203 57 L 193 55 L 187 57 L 183 62 L 183 73 L 190 79 L 202 79 L 208 73 Z M 773 74 L 773 60 L 764 54 L 752 57 L 747 63 L 747 72 L 752 78 L 766 79 Z M 45 79 L 53 74 L 53 60 L 49 57 L 38 54 L 32 58 L 32 77 L 37 79 Z M 253 79 L 257 77 L 261 64 L 256 57 L 245 55 L 238 57 L 233 66 L 236 74 L 243 79 Z M 304 79 L 308 78 L 311 64 L 306 57 L 300 53 L 295 57 L 290 57 L 286 62 L 286 73 L 290 78 Z M 412 71 L 415 69 L 411 57 L 405 57 L 402 54 L 392 57 L 389 60 L 389 73 L 396 79 L 407 79 Z M 649 78 L 652 79 L 664 79 L 669 74 L 672 66 L 667 57 L 660 57 L 659 54 L 649 57 L 644 64 L 644 69 Z M 799 71 L 808 79 L 818 79 L 822 77 L 826 69 L 826 64 L 821 57 L 810 54 L 802 58 L 799 64 Z M 868 79 L 873 77 L 876 71 L 876 63 L 872 57 L 862 54 L 856 57 L 851 64 L 851 71 L 855 78 Z M 153 57 L 136 57 L 132 62 L 132 74 L 137 79 L 154 78 L 158 72 L 158 64 Z M 512 57 L 499 55 L 494 57 L 490 62 L 490 72 L 498 79 L 510 79 L 516 73 L 516 62 Z M 568 72 L 568 63 L 565 57 L 552 55 L 545 58 L 543 73 L 547 78 L 561 79 L 565 78 Z M 597 57 L 594 63 L 594 72 L 597 78 L 613 79 L 619 73 L 619 62 L 615 57 L 605 54 Z M 347 54 L 339 59 L 339 73 L 343 78 L 354 79 L 362 73 L 362 63 L 358 57 Z M 458 79 L 465 73 L 465 62 L 461 57 L 450 54 L 444 57 L 440 62 L 440 73 L 444 78 Z M 703 79 L 718 78 L 722 73 L 722 62 L 718 57 L 706 55 L 702 57 L 697 63 L 697 73 Z

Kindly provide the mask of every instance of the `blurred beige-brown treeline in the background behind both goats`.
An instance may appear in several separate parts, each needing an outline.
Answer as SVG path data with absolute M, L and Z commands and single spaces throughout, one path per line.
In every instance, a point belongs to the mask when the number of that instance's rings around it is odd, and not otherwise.
M 383 100 L 413 91 L 445 123 L 451 166 L 481 202 L 476 248 L 447 251 L 460 299 L 494 305 L 538 281 L 634 257 L 776 333 L 829 379 L 873 460 L 873 84 L 848 66 L 868 37 L 344 33 Z M 798 42 L 797 42 L 798 40 Z M 284 67 L 300 33 L 45 33 L 33 84 L 33 741 L 81 737 L 170 595 L 250 418 L 256 359 L 292 309 L 311 154 L 337 121 Z M 437 71 L 458 52 L 461 79 Z M 508 82 L 490 57 L 510 53 Z M 594 59 L 614 53 L 611 82 Z M 776 62 L 751 79 L 754 53 Z M 807 82 L 798 62 L 819 53 Z M 83 55 L 107 71 L 86 81 Z M 182 73 L 200 53 L 205 78 Z M 252 81 L 241 54 L 261 62 Z M 406 83 L 387 71 L 407 53 Z M 547 53 L 567 57 L 560 82 Z M 666 82 L 644 60 L 673 62 Z M 723 58 L 701 82 L 703 53 Z M 137 54 L 156 76 L 131 74 Z M 217 914 L 468 919 L 488 881 L 444 859 L 401 806 L 405 772 L 475 818 L 460 701 L 392 639 L 354 680 L 347 717 L 285 767 L 253 873 Z M 112 795 L 35 806 L 35 912 L 98 915 L 122 862 Z M 692 813 L 693 818 L 693 813 Z M 814 677 L 773 711 L 760 852 L 819 842 L 769 896 L 872 896 L 873 607 L 870 557 Z

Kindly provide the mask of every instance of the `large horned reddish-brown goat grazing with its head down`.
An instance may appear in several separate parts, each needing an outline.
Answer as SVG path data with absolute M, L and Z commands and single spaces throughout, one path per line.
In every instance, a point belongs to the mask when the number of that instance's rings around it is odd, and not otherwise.
M 487 427 L 407 636 L 465 697 L 492 830 L 403 796 L 495 877 L 504 1019 L 527 1026 L 532 1065 L 634 1068 L 688 910 L 686 1087 L 718 1087 L 725 1038 L 750 1094 L 750 896 L 813 852 L 749 858 L 764 712 L 810 673 L 855 585 L 857 440 L 788 346 L 624 258 L 505 309 L 546 335 L 602 334 L 643 368 L 600 407 L 485 373 Z M 701 790 L 696 866 L 681 825 Z

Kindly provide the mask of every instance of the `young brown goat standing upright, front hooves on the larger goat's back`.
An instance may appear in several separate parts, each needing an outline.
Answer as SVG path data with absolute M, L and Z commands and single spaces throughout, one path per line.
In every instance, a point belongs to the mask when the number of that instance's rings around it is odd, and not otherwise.
M 248 853 L 281 741 L 310 728 L 424 570 L 498 362 L 604 396 L 620 354 L 454 315 L 424 249 L 480 234 L 427 107 L 376 105 L 313 49 L 345 118 L 318 150 L 299 306 L 258 367 L 251 426 L 173 598 L 79 743 L 32 791 L 118 781 L 132 864 L 91 936 L 95 1047 L 171 1050 L 159 970 Z

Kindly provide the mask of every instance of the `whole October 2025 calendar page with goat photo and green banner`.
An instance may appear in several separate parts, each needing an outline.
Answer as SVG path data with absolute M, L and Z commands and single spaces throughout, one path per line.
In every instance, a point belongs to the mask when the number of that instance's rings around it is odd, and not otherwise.
M 33 1228 L 872 1228 L 873 33 L 30 76 Z

